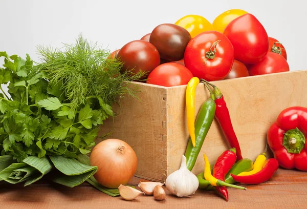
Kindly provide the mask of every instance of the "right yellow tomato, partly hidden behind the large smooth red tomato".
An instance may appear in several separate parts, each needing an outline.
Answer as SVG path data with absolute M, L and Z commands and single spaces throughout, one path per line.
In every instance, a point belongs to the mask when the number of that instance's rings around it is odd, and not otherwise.
M 221 33 L 224 32 L 226 26 L 235 18 L 246 14 L 247 12 L 241 9 L 231 9 L 218 15 L 213 21 L 213 28 Z

